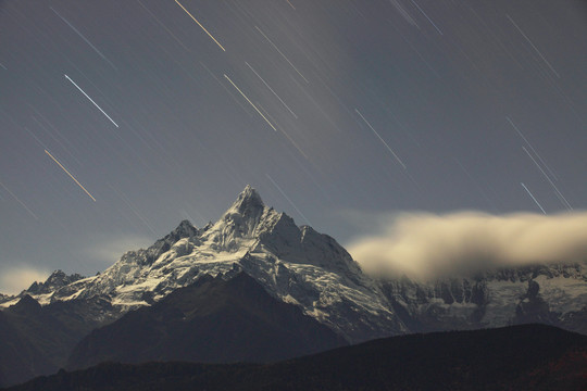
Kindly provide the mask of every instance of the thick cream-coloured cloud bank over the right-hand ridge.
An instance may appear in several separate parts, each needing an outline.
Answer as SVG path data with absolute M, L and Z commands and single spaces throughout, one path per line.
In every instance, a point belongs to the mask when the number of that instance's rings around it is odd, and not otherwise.
M 587 212 L 404 213 L 378 219 L 347 250 L 372 275 L 429 279 L 500 266 L 587 260 Z

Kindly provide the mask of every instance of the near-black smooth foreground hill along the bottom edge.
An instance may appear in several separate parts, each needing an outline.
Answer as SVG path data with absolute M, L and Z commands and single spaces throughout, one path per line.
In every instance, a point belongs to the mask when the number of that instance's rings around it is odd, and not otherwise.
M 587 337 L 525 325 L 392 337 L 267 365 L 105 363 L 8 390 L 586 389 Z

